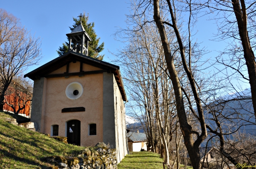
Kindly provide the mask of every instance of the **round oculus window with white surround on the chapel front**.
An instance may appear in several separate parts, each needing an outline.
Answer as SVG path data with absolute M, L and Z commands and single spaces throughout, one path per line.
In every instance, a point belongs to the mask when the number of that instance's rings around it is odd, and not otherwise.
M 66 88 L 66 96 L 70 100 L 76 100 L 83 94 L 83 86 L 79 82 L 72 82 Z

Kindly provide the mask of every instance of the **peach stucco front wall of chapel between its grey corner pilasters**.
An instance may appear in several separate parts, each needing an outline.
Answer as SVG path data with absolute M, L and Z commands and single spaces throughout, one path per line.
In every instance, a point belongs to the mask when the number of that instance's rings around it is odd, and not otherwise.
M 83 94 L 78 100 L 69 100 L 65 94 L 69 83 L 79 82 L 83 86 Z M 59 125 L 59 136 L 66 136 L 66 122 L 81 121 L 81 145 L 95 146 L 103 141 L 103 75 L 92 74 L 83 77 L 47 79 L 45 102 L 44 132 L 51 133 L 52 125 Z M 63 108 L 85 107 L 85 112 L 61 113 Z M 95 123 L 97 135 L 88 135 L 88 125 Z

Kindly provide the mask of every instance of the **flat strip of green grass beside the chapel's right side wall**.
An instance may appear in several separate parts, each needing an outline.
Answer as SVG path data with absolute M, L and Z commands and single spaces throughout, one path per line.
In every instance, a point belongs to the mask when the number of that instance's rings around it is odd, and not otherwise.
M 163 169 L 163 159 L 152 152 L 131 152 L 117 165 L 118 169 Z

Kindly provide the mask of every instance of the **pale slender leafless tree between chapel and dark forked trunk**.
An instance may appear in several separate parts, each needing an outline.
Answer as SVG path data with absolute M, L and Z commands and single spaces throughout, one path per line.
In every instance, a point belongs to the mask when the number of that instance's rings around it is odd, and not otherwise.
M 140 12 L 133 7 L 134 13 Z M 164 55 L 161 39 L 154 23 L 143 25 L 144 19 L 137 16 L 128 19 L 129 23 L 135 24 L 132 29 L 117 32 L 129 39 L 129 44 L 117 55 L 118 61 L 126 67 L 123 76 L 127 84 L 130 84 L 128 88 L 133 111 L 136 112 L 137 106 L 139 113 L 145 112 L 143 116 L 138 116 L 138 120 L 142 121 L 142 126 L 147 126 L 145 131 L 150 138 L 149 144 L 156 152 L 155 140 L 159 138 L 157 142 L 160 142 L 160 154 L 169 165 L 171 128 L 175 124 L 172 117 L 176 114 L 176 107 L 166 64 L 162 61 Z M 172 41 L 175 37 L 173 32 L 167 30 L 167 33 L 169 41 Z

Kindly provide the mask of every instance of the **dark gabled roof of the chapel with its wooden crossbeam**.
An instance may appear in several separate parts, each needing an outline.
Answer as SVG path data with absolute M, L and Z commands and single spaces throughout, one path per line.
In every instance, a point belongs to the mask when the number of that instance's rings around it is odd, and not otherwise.
M 76 61 L 92 65 L 95 67 L 99 67 L 103 69 L 102 71 L 90 71 L 90 72 L 78 72 L 78 73 L 62 73 L 56 75 L 49 75 L 49 73 L 67 65 L 70 62 L 75 63 Z M 69 51 L 58 58 L 55 58 L 48 63 L 40 66 L 39 68 L 34 69 L 33 71 L 24 75 L 24 78 L 28 77 L 32 80 L 40 79 L 41 77 L 45 78 L 52 78 L 55 76 L 65 77 L 65 76 L 74 76 L 79 74 L 86 74 L 86 73 L 99 73 L 99 72 L 108 72 L 113 73 L 115 76 L 116 83 L 119 87 L 120 93 L 122 95 L 123 101 L 127 101 L 126 93 L 123 86 L 123 81 L 120 73 L 120 67 L 107 63 L 102 60 L 94 59 L 92 57 L 85 56 L 84 54 Z

